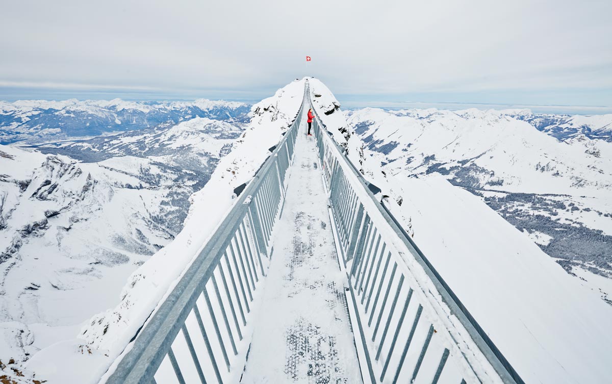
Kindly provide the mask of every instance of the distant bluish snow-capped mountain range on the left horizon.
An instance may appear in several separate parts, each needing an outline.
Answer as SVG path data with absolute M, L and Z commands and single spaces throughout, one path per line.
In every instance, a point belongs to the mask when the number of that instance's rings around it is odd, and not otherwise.
M 75 136 L 174 125 L 193 117 L 244 120 L 250 106 L 198 99 L 193 102 L 126 102 L 75 99 L 0 102 L 0 144 L 43 142 Z

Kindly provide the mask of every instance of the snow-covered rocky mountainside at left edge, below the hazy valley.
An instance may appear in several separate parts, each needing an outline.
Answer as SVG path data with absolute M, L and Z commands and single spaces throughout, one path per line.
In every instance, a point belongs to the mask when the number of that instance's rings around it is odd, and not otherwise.
M 190 191 L 140 158 L 0 151 L 0 351 L 24 360 L 113 303 L 120 281 L 180 229 L 181 207 L 159 203 Z M 143 185 L 140 172 L 160 180 Z

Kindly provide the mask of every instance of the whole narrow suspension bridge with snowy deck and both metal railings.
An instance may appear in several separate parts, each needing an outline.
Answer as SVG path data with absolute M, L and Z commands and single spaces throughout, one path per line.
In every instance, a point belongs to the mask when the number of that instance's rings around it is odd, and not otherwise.
M 523 383 L 311 106 L 106 383 Z

